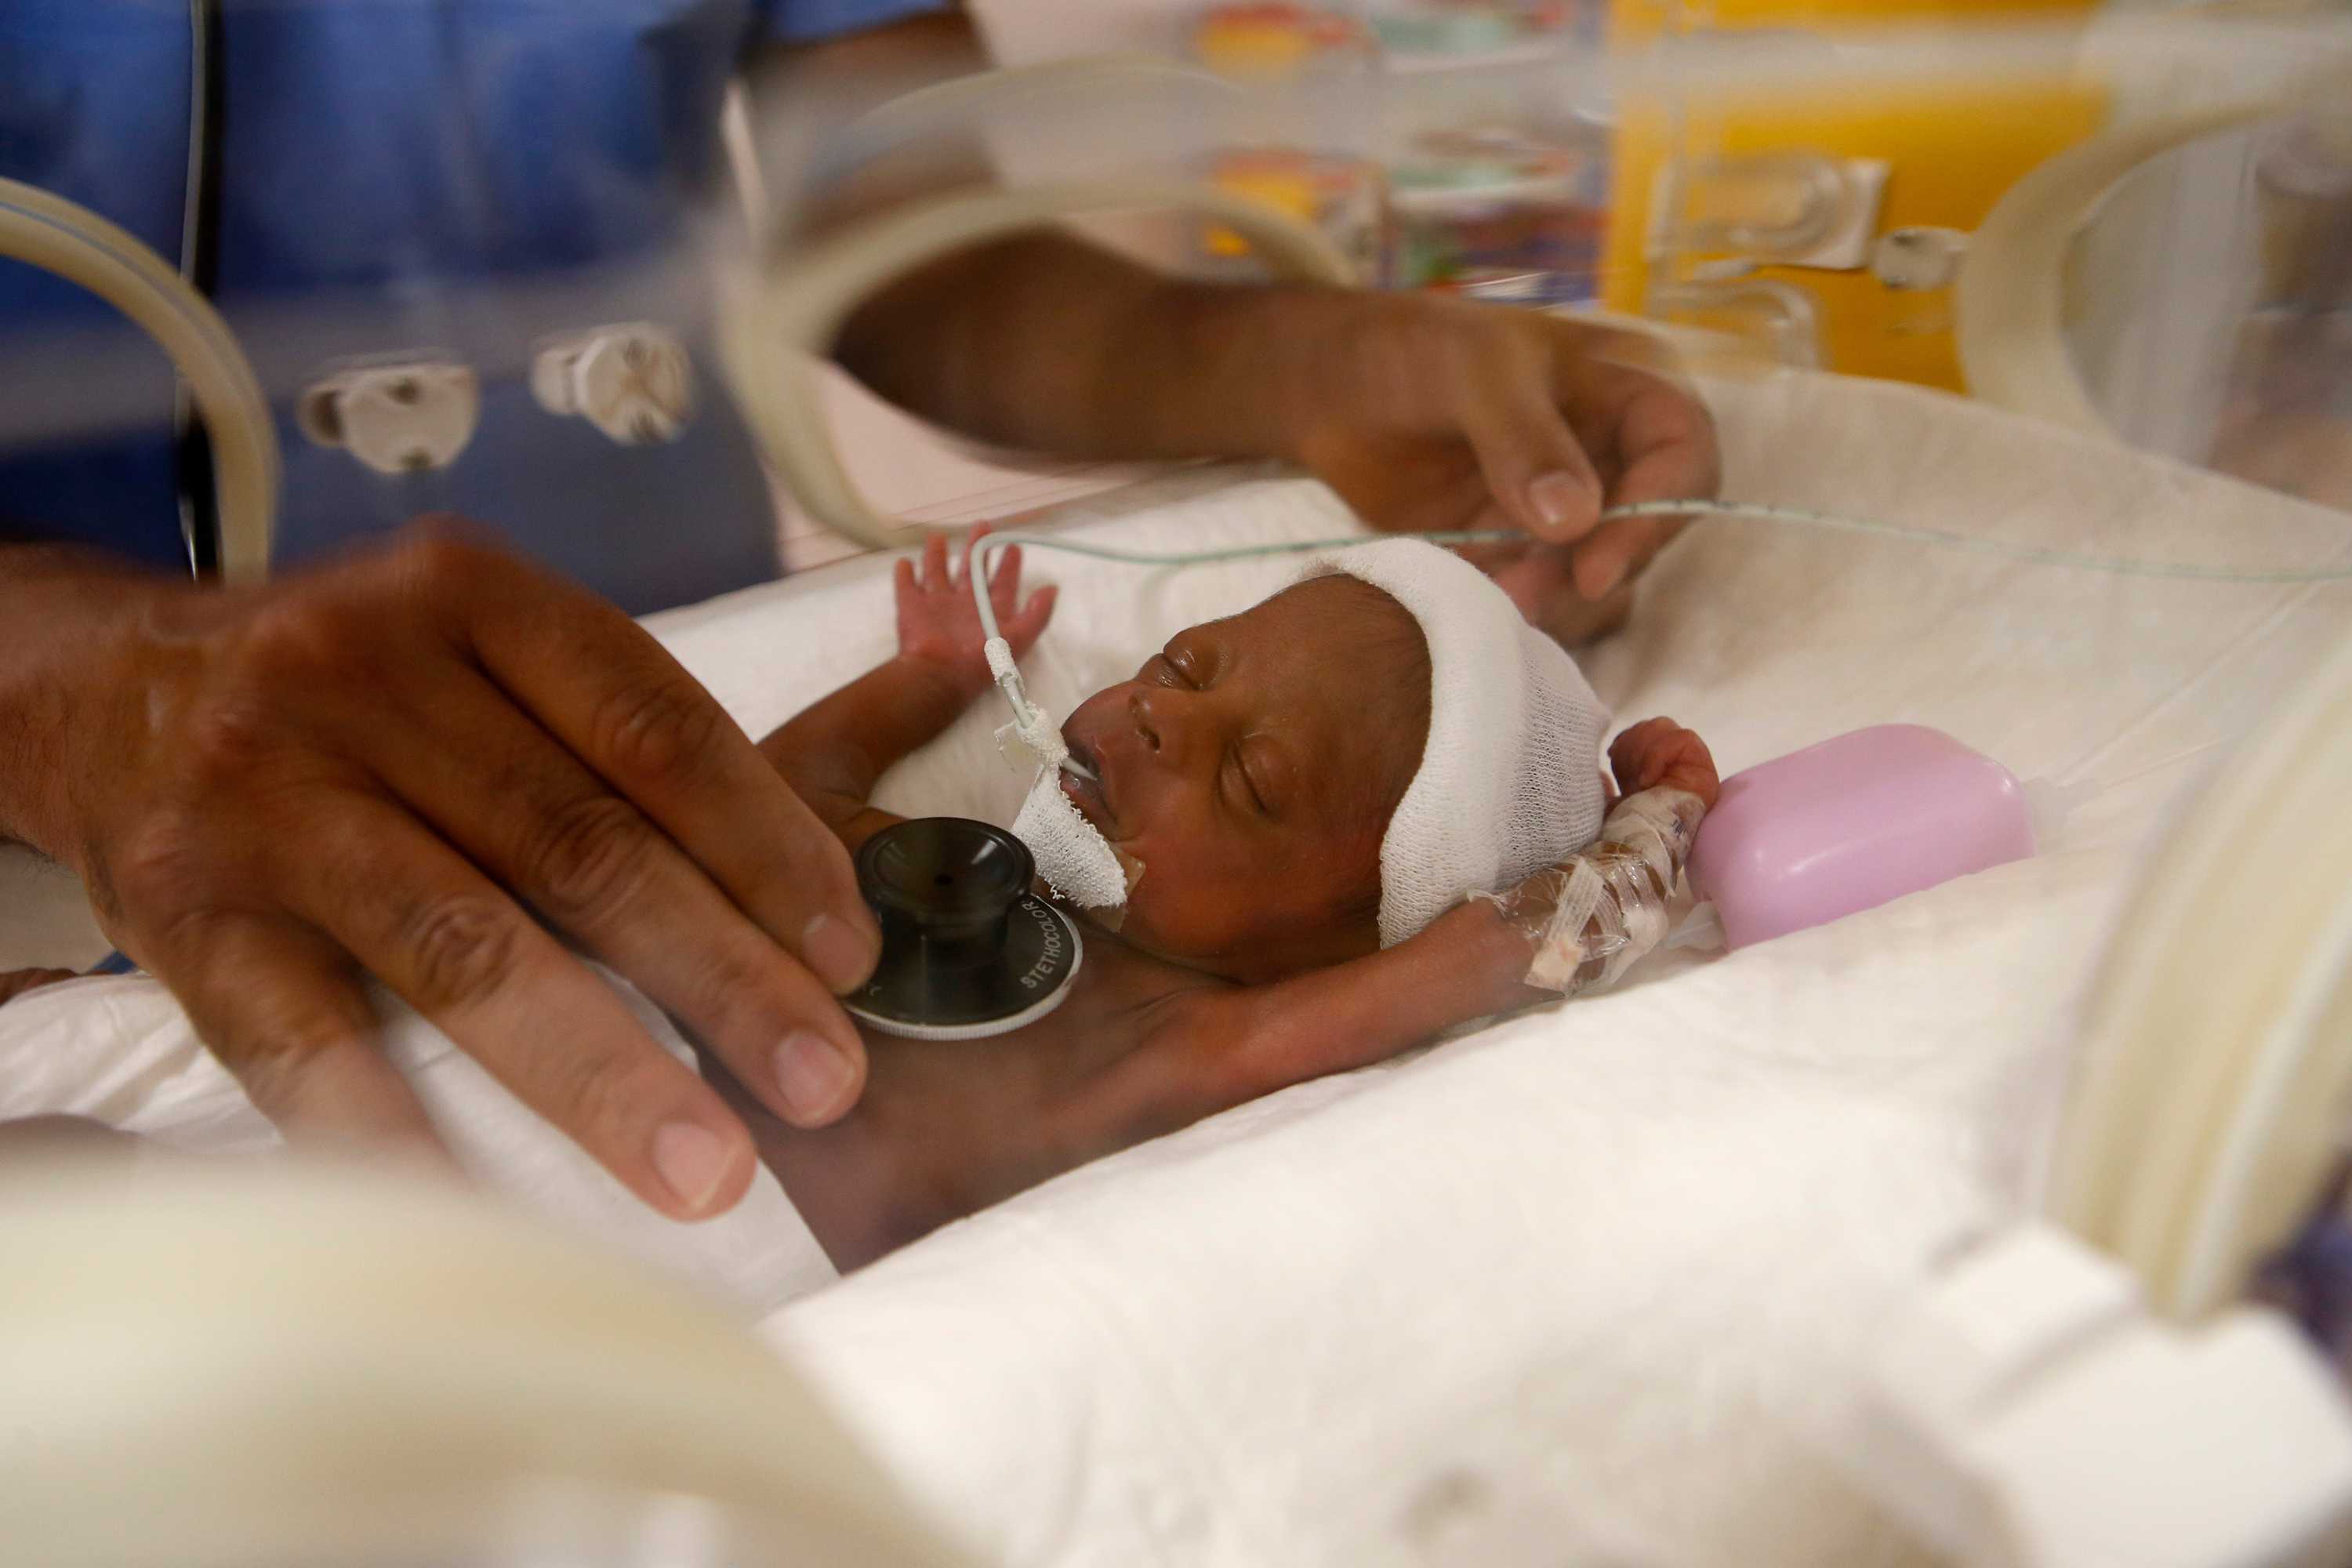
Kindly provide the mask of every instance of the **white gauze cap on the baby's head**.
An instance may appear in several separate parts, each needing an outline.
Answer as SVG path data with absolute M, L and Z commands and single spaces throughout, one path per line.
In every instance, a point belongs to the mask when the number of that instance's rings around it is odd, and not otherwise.
M 1317 557 L 1303 578 L 1371 583 L 1421 623 L 1430 738 L 1381 839 L 1381 945 L 1395 947 L 1465 893 L 1566 860 L 1602 830 L 1609 710 L 1566 649 L 1494 581 L 1421 538 Z

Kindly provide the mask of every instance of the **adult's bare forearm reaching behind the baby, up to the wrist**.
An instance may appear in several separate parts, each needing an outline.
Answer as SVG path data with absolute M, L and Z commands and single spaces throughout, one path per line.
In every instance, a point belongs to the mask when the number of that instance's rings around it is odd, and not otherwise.
M 1296 456 L 1305 343 L 1334 289 L 1167 277 L 1070 235 L 948 256 L 870 301 L 835 353 L 967 435 L 1080 458 Z M 1282 317 L 1282 334 L 1268 329 Z

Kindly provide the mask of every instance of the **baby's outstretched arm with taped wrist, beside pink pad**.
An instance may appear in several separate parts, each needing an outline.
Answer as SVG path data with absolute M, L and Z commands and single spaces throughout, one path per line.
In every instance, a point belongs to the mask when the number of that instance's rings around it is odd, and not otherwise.
M 1663 910 L 1691 835 L 1715 804 L 1715 759 L 1672 719 L 1649 719 L 1609 748 L 1625 799 L 1602 837 L 1496 898 L 1446 910 L 1409 943 L 1312 973 L 1228 992 L 1192 992 L 1162 1025 L 1162 1048 L 1120 1072 L 1143 1119 L 1183 1126 L 1291 1084 L 1388 1060 L 1472 1018 L 1555 1001 L 1616 978 L 1632 957 L 1625 914 L 1564 893 L 1599 884 L 1604 898 Z M 1644 839 L 1656 842 L 1644 842 Z M 1663 863 L 1663 865 L 1661 865 Z M 1663 875 L 1661 875 L 1663 870 Z M 1611 966 L 1616 959 L 1616 966 Z

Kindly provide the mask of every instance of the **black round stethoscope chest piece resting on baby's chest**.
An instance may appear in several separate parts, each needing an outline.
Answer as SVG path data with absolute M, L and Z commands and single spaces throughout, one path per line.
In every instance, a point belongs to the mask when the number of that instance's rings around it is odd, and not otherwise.
M 1084 950 L 1070 917 L 1030 893 L 1035 875 L 1021 839 L 960 816 L 866 839 L 858 891 L 882 919 L 882 961 L 849 1013 L 910 1039 L 981 1039 L 1051 1013 Z

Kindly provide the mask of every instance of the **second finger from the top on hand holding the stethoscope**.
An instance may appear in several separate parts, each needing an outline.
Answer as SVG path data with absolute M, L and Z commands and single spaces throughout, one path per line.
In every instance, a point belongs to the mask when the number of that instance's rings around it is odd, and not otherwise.
M 807 969 L 487 679 L 454 672 L 430 705 L 372 759 L 407 806 L 677 1016 L 771 1112 L 821 1126 L 849 1110 L 863 1041 Z M 437 745 L 449 731 L 470 745 Z

